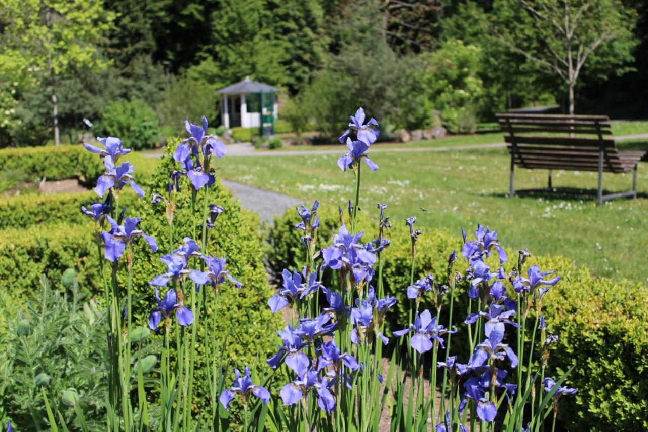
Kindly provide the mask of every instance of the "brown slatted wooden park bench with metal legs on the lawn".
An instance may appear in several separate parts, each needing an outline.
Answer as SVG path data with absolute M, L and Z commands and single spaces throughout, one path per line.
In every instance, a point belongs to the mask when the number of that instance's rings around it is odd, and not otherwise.
M 637 165 L 648 156 L 644 151 L 619 151 L 610 138 L 607 115 L 497 114 L 504 140 L 511 154 L 511 186 L 509 197 L 515 195 L 515 165 L 527 169 L 597 171 L 599 187 L 597 206 L 604 200 L 637 197 Z M 644 159 L 645 160 L 645 159 Z M 603 173 L 629 173 L 632 191 L 603 195 Z M 522 191 L 518 191 L 522 192 Z

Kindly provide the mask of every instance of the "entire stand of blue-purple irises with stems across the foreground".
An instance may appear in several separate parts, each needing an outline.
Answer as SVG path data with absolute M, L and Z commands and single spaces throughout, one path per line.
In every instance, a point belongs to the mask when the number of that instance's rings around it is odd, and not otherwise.
M 159 214 L 168 227 L 166 239 L 149 235 L 140 217 L 120 207 L 124 186 L 139 196 L 146 193 L 136 182 L 135 168 L 119 163 L 128 149 L 115 138 L 105 139 L 104 149 L 86 146 L 106 169 L 95 187 L 102 200 L 84 206 L 82 212 L 95 226 L 100 274 L 110 275 L 102 283 L 110 315 L 105 346 L 110 365 L 109 429 L 217 427 L 227 419 L 219 412 L 219 403 L 223 410 L 242 405 L 246 430 L 262 429 L 266 422 L 276 430 L 376 430 L 383 413 L 390 416 L 393 428 L 403 430 L 426 429 L 429 421 L 437 431 L 463 430 L 467 425 L 482 431 L 538 430 L 549 416 L 555 426 L 559 400 L 575 392 L 563 385 L 566 374 L 555 380 L 545 376 L 557 338 L 548 333 L 542 305 L 561 276 L 525 266 L 526 250 L 506 272 L 508 256 L 497 232 L 478 226 L 474 237 L 462 228 L 461 251 L 446 259 L 447 285 L 432 276 L 415 281 L 417 246 L 424 234 L 415 218 L 408 218 L 410 280 L 402 291 L 408 298 L 410 325 L 390 337 L 385 321 L 398 300 L 386 295 L 383 283 L 391 245 L 385 234 L 393 224 L 386 215 L 388 206 L 378 204 L 377 237 L 358 230 L 362 167 L 374 173 L 379 169 L 369 158 L 379 125 L 375 119 L 365 123 L 362 108 L 350 119 L 349 129 L 340 137 L 349 152 L 340 157 L 338 167 L 354 174 L 354 198 L 347 208 L 338 209 L 340 226 L 332 243 L 321 246 L 319 202 L 297 207 L 301 221 L 295 230 L 300 232 L 304 265 L 284 270 L 282 287 L 268 296 L 266 309 L 284 313 L 288 321 L 284 330 L 277 331 L 279 346 L 266 368 L 233 365 L 236 378 L 229 388 L 224 384 L 227 354 L 218 334 L 218 315 L 207 313 L 218 311 L 221 292 L 236 295 L 248 289 L 234 271 L 247 263 L 230 263 L 208 248 L 227 219 L 226 209 L 210 199 L 217 187 L 214 165 L 225 156 L 225 145 L 207 135 L 204 117 L 202 125 L 187 122 L 191 136 L 173 152 L 175 165 L 168 173 L 167 188 L 152 195 L 151 205 L 162 209 Z M 181 192 L 187 188 L 189 202 Z M 176 214 L 183 204 L 191 204 L 185 211 L 191 211 L 192 222 L 178 232 Z M 135 280 L 143 274 L 137 271 L 141 257 L 150 259 L 158 250 L 166 253 L 159 257 L 161 271 L 148 280 L 147 320 L 152 331 L 163 335 L 163 348 L 159 386 L 147 392 L 143 376 L 145 368 L 151 370 L 151 362 L 133 350 L 139 340 L 136 323 L 144 318 L 135 313 Z M 459 257 L 465 259 L 465 271 L 456 270 Z M 322 275 L 331 273 L 332 282 L 322 283 Z M 460 330 L 452 325 L 452 313 L 456 285 L 462 280 L 470 288 Z M 434 307 L 423 309 L 423 298 L 430 296 Z M 447 326 L 441 322 L 444 298 L 450 299 Z M 527 329 L 531 341 L 524 337 Z M 467 343 L 451 351 L 452 335 L 458 331 L 467 333 Z M 388 350 L 391 362 L 385 370 L 382 358 Z M 199 364 L 206 369 L 204 375 L 196 374 Z M 424 376 L 430 379 L 430 394 L 424 392 Z M 196 400 L 201 387 L 211 391 L 205 407 L 194 413 L 196 403 L 202 405 Z M 281 387 L 278 394 L 272 391 L 275 387 Z M 388 404 L 389 397 L 396 402 Z M 75 398 L 69 397 L 73 406 Z M 44 402 L 53 426 L 56 418 L 46 397 Z M 76 413 L 87 430 L 84 413 L 80 409 Z

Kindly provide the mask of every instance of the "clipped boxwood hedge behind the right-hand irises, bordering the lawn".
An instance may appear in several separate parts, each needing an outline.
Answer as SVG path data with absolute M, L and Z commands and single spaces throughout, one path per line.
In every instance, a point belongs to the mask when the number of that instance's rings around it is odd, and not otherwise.
M 376 213 L 377 216 L 377 213 Z M 338 229 L 337 209 L 319 208 L 318 247 L 330 244 Z M 282 269 L 303 265 L 303 246 L 293 227 L 299 221 L 294 210 L 275 219 L 268 235 L 266 259 L 275 276 Z M 360 229 L 364 241 L 377 234 L 375 221 L 366 215 Z M 386 293 L 398 300 L 397 313 L 388 315 L 391 328 L 403 328 L 408 321 L 406 287 L 409 285 L 410 239 L 402 221 L 394 221 L 392 244 L 384 252 Z M 432 273 L 445 283 L 446 263 L 452 250 L 461 248 L 461 235 L 426 231 L 419 237 L 415 278 Z M 531 251 L 533 252 L 533 251 Z M 516 252 L 509 250 L 509 257 Z M 555 374 L 574 365 L 568 383 L 578 389 L 575 398 L 562 398 L 559 422 L 565 430 L 646 430 L 648 428 L 648 292 L 641 283 L 594 278 L 586 269 L 575 267 L 569 259 L 535 257 L 543 270 L 557 270 L 563 280 L 553 287 L 544 302 L 548 331 L 559 335 L 558 348 L 551 354 Z M 496 263 L 493 263 L 493 267 Z M 505 265 L 511 270 L 512 262 Z M 466 269 L 457 259 L 455 269 Z M 329 280 L 325 278 L 325 283 Z M 336 285 L 332 285 L 336 286 Z M 457 287 L 454 322 L 460 326 L 467 310 L 465 283 Z M 446 299 L 447 300 L 447 299 Z M 428 303 L 421 307 L 431 307 Z M 445 312 L 448 307 L 445 306 Z M 446 322 L 447 318 L 442 318 Z M 465 326 L 460 327 L 465 328 Z M 465 331 L 453 337 L 453 351 L 462 346 Z M 467 353 L 456 352 L 467 357 Z M 460 357 L 461 358 L 461 357 Z M 467 360 L 463 358 L 462 360 Z

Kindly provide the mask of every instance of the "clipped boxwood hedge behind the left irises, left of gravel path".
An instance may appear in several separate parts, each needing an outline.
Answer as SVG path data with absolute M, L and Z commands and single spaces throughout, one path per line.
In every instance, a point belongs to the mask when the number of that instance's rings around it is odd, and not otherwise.
M 167 154 L 170 152 L 172 149 L 167 150 Z M 226 159 L 218 161 L 226 162 Z M 100 165 L 96 155 L 94 163 Z M 166 191 L 168 172 L 173 169 L 172 165 L 174 162 L 171 158 L 163 158 L 152 178 L 143 184 L 146 197 L 137 200 L 126 211 L 128 216 L 141 216 L 141 229 L 156 237 L 159 243 L 157 254 L 153 254 L 144 241 L 137 241 L 134 246 L 135 322 L 145 323 L 148 320 L 148 311 L 155 305 L 154 291 L 148 285 L 148 281 L 165 271 L 159 257 L 168 250 L 168 227 L 163 207 L 150 204 L 150 197 L 154 191 Z M 135 169 L 137 170 L 137 165 Z M 191 236 L 194 223 L 191 218 L 189 184 L 183 182 L 182 186 L 184 192 L 179 194 L 177 200 L 174 247 L 178 246 L 182 237 Z M 211 191 L 210 202 L 224 206 L 226 213 L 220 216 L 216 228 L 210 233 L 211 243 L 208 251 L 213 256 L 226 255 L 227 268 L 243 284 L 240 291 L 228 284 L 220 287 L 216 311 L 216 337 L 222 340 L 227 335 L 226 359 L 231 362 L 231 366 L 242 368 L 247 365 L 259 365 L 275 350 L 277 341 L 274 330 L 281 327 L 281 317 L 273 317 L 266 306 L 273 290 L 268 285 L 262 263 L 263 246 L 259 219 L 257 215 L 242 210 L 231 192 L 220 182 L 212 189 L 215 191 Z M 84 197 L 88 200 L 95 199 L 92 195 L 84 194 Z M 202 208 L 202 193 L 199 194 L 199 198 Z M 49 200 L 49 197 L 47 199 Z M 56 207 L 54 201 L 52 198 L 52 209 Z M 72 208 L 69 210 L 70 214 L 78 211 L 80 202 L 76 198 L 70 198 L 68 204 Z M 68 210 L 58 211 L 67 214 L 65 212 Z M 73 267 L 78 272 L 80 287 L 91 294 L 97 294 L 98 300 L 101 300 L 100 293 L 103 293 L 103 288 L 97 265 L 93 223 L 86 219 L 82 218 L 80 223 L 74 224 L 62 222 L 58 215 L 55 215 L 50 223 L 0 230 L 0 290 L 10 291 L 13 297 L 23 302 L 38 290 L 41 274 L 47 274 L 51 280 L 60 280 L 62 272 L 68 267 Z M 14 219 L 18 223 L 21 220 L 23 216 Z M 125 269 L 120 270 L 119 277 L 122 287 L 125 287 Z M 19 302 L 0 307 L 9 312 L 17 309 Z M 208 314 L 213 312 L 213 307 L 210 306 Z M 203 347 L 198 349 L 202 350 Z M 202 361 L 204 355 L 200 354 L 198 358 Z M 205 366 L 196 364 L 196 374 L 204 373 Z M 200 379 L 196 378 L 196 382 L 200 382 Z M 200 389 L 196 393 L 196 409 L 200 409 L 207 402 L 208 390 Z

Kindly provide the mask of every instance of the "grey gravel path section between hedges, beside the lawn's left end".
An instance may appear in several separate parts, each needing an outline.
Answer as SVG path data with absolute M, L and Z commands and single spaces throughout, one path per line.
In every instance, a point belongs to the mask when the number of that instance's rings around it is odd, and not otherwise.
M 259 214 L 264 222 L 272 222 L 275 215 L 282 215 L 286 209 L 301 202 L 297 198 L 266 191 L 258 187 L 232 182 L 231 180 L 221 179 L 220 181 L 234 193 L 235 197 L 241 200 L 243 208 Z

